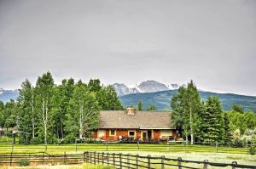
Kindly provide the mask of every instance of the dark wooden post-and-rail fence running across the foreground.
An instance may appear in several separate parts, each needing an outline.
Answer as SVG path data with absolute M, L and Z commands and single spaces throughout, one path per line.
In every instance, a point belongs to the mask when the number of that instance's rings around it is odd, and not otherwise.
M 256 166 L 239 165 L 236 161 L 232 163 L 214 163 L 209 161 L 186 161 L 181 157 L 177 159 L 166 158 L 165 156 L 155 157 L 151 155 L 130 155 L 121 153 L 84 151 L 80 154 L 50 155 L 45 152 L 38 154 L 2 154 L 0 155 L 0 165 L 17 166 L 21 160 L 29 161 L 33 166 L 44 165 L 60 165 L 60 164 L 102 164 L 111 165 L 119 169 L 165 169 L 165 168 L 203 168 L 208 169 L 211 166 L 235 168 L 256 168 Z

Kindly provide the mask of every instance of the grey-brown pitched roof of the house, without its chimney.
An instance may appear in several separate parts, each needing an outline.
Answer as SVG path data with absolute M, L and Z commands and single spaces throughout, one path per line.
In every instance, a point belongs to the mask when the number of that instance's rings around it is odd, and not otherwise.
M 127 115 L 124 110 L 104 110 L 99 128 L 171 129 L 171 117 L 168 112 L 137 111 Z

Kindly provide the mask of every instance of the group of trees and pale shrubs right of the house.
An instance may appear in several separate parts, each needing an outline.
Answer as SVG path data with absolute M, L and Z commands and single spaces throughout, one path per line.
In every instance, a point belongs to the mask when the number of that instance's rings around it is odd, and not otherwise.
M 172 124 L 183 132 L 191 144 L 247 145 L 256 143 L 256 114 L 233 104 L 233 110 L 222 109 L 218 96 L 204 102 L 194 82 L 179 87 L 172 96 Z

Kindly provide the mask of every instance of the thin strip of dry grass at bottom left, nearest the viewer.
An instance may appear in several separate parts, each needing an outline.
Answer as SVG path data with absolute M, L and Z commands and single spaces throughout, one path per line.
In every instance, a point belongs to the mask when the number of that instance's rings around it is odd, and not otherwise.
M 1 169 L 114 169 L 113 166 L 104 165 L 92 165 L 92 164 L 82 164 L 82 165 L 59 165 L 59 166 L 2 166 Z

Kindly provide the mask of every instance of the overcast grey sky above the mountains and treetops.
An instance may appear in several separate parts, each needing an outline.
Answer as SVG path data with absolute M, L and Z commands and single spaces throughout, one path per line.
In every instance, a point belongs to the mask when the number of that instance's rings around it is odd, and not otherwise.
M 256 1 L 0 0 L 0 88 L 48 70 L 256 96 Z

